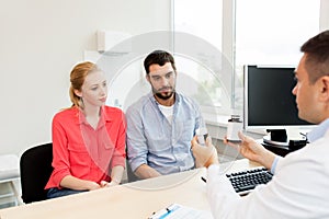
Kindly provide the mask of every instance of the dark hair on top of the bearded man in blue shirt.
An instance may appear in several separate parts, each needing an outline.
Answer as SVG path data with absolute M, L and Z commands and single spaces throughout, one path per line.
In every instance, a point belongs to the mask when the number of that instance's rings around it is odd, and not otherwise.
M 154 50 L 150 53 L 144 60 L 144 68 L 146 73 L 149 73 L 149 66 L 154 64 L 158 64 L 159 66 L 163 66 L 164 64 L 170 62 L 173 70 L 175 71 L 174 59 L 171 54 L 164 50 Z

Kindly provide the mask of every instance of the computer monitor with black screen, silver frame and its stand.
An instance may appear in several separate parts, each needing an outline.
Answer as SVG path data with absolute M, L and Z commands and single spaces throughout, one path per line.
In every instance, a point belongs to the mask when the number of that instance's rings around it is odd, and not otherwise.
M 298 118 L 293 67 L 245 66 L 245 129 L 265 128 L 269 143 L 288 145 L 285 129 L 305 128 L 309 124 Z M 264 139 L 266 140 L 266 138 Z

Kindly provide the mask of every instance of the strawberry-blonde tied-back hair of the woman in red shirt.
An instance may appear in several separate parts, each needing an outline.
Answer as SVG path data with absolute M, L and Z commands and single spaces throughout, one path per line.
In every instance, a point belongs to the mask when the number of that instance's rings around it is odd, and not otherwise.
M 86 77 L 92 71 L 98 71 L 98 70 L 99 68 L 97 67 L 97 65 L 90 61 L 78 64 L 71 70 L 70 73 L 71 85 L 70 85 L 69 94 L 72 102 L 72 106 L 78 106 L 80 108 L 83 108 L 83 102 L 80 96 L 76 95 L 75 90 L 81 91 Z

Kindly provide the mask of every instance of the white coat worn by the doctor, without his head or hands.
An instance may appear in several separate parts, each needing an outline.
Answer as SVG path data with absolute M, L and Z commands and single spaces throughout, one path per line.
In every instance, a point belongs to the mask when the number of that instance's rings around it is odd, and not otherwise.
M 214 218 L 329 218 L 329 129 L 324 137 L 281 158 L 266 185 L 237 195 L 219 165 L 208 168 Z

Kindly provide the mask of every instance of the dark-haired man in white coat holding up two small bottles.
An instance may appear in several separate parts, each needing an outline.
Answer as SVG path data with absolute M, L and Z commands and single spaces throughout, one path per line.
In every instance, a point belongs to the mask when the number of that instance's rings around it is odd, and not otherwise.
M 318 124 L 308 134 L 310 143 L 281 158 L 241 132 L 239 145 L 224 140 L 271 170 L 272 181 L 240 197 L 219 173 L 211 140 L 207 147 L 201 147 L 196 138 L 192 140 L 196 161 L 207 168 L 207 196 L 214 218 L 329 218 L 329 31 L 308 39 L 300 50 L 304 54 L 292 92 L 299 118 Z

